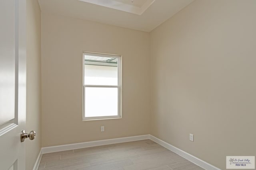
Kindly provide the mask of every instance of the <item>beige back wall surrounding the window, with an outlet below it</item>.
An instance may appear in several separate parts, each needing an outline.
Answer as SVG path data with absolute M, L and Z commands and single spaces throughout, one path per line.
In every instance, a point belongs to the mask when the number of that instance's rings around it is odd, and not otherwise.
M 82 121 L 83 51 L 122 55 L 122 119 Z M 42 12 L 42 146 L 148 134 L 149 65 L 149 33 Z

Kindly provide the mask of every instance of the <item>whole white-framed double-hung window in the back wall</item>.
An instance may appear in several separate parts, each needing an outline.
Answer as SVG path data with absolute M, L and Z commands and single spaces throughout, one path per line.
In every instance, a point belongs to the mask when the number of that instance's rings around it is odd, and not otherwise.
M 121 117 L 121 57 L 83 55 L 83 119 Z

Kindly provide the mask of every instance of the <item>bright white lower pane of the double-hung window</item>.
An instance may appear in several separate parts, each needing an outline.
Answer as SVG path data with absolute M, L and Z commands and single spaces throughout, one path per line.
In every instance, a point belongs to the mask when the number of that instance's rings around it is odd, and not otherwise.
M 85 117 L 117 116 L 118 88 L 86 87 Z

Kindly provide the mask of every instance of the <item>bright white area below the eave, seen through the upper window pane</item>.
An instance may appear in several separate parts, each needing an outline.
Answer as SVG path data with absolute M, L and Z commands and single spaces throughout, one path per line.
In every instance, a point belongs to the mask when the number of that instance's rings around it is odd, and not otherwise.
M 84 84 L 117 86 L 117 77 L 117 66 L 84 65 Z

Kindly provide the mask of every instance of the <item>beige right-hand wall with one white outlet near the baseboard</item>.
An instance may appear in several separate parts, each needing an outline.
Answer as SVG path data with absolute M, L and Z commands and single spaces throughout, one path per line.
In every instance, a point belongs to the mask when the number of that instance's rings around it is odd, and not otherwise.
M 256 155 L 255 17 L 255 0 L 196 0 L 150 33 L 150 134 L 221 169 Z

